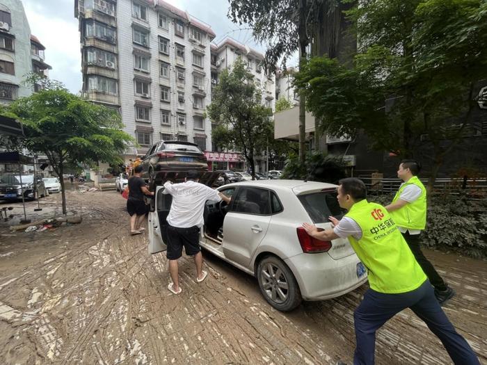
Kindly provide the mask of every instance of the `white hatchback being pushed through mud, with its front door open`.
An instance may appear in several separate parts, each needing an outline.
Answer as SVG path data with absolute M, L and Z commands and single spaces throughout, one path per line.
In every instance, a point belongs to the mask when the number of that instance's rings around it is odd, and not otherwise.
M 232 197 L 207 202 L 200 245 L 233 266 L 255 275 L 264 298 L 280 311 L 301 300 L 325 300 L 353 291 L 367 281 L 365 267 L 347 239 L 319 241 L 302 222 L 331 227 L 341 218 L 337 186 L 313 181 L 255 180 L 218 188 Z M 157 186 L 149 213 L 149 252 L 165 250 L 166 218 L 172 197 Z

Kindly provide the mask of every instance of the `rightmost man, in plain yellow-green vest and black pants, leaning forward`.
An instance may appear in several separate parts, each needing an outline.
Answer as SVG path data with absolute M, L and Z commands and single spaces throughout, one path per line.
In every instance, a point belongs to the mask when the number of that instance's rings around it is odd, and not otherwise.
M 397 170 L 397 177 L 404 181 L 399 187 L 394 200 L 385 209 L 391 213 L 399 231 L 404 236 L 417 263 L 420 264 L 435 288 L 435 296 L 440 304 L 453 298 L 455 292 L 437 273 L 421 250 L 420 235 L 426 227 L 426 189 L 417 178 L 420 166 L 414 160 L 403 160 Z

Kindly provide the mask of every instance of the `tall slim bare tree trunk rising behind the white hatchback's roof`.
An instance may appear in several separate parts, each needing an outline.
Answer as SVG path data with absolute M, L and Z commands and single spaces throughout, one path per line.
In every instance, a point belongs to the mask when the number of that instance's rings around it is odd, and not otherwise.
M 308 14 L 308 0 L 299 0 L 299 70 L 303 70 L 306 62 L 306 47 L 308 37 L 306 35 L 306 16 Z M 299 162 L 305 164 L 305 127 L 306 127 L 306 99 L 299 95 Z

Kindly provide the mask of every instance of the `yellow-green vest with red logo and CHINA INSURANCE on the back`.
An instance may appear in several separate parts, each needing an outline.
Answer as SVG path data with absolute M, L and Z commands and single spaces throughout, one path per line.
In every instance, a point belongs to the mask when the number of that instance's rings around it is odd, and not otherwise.
M 362 229 L 360 240 L 349 236 L 349 241 L 367 268 L 374 291 L 406 293 L 424 283 L 426 275 L 383 206 L 361 200 L 345 216 Z

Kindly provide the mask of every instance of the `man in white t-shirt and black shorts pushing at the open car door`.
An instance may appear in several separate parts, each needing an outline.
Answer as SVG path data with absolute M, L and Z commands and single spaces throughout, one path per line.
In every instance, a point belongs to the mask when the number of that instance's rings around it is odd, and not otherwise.
M 227 204 L 230 198 L 219 193 L 217 190 L 200 184 L 199 173 L 189 171 L 184 183 L 172 184 L 166 181 L 163 194 L 173 196 L 168 215 L 168 251 L 166 256 L 169 260 L 169 273 L 173 282 L 168 285 L 169 291 L 174 294 L 181 293 L 179 286 L 179 269 L 177 259 L 182 256 L 182 248 L 188 256 L 193 256 L 196 266 L 197 282 L 202 282 L 208 273 L 202 270 L 203 257 L 200 248 L 200 227 L 204 224 L 203 212 L 205 202 L 214 200 L 219 202 L 225 200 Z

